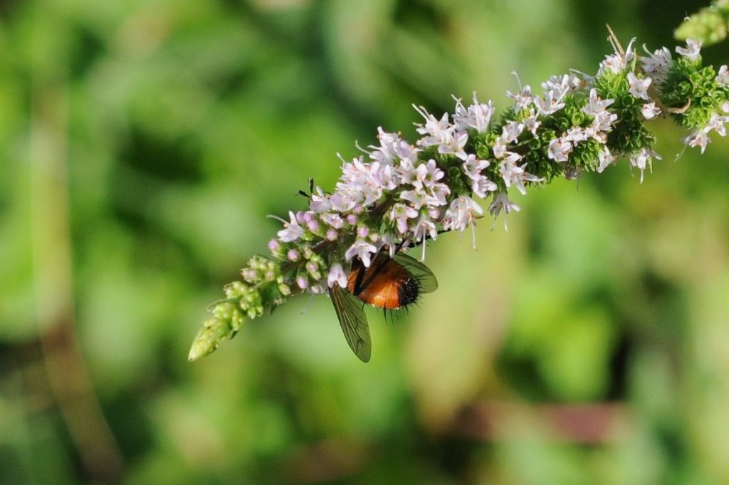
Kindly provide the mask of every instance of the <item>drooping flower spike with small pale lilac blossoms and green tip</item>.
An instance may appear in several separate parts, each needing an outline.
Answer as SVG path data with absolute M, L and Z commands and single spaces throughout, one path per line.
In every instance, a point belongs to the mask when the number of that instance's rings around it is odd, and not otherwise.
M 709 134 L 725 136 L 729 122 L 729 72 L 703 66 L 701 43 L 688 39 L 673 57 L 666 47 L 639 55 L 635 39 L 615 53 L 596 74 L 572 71 L 553 76 L 533 93 L 529 85 L 507 93 L 512 100 L 500 116 L 491 101 L 476 94 L 469 104 L 454 98 L 452 114 L 436 117 L 414 106 L 422 117 L 415 144 L 399 133 L 378 128 L 377 145 L 354 160 L 342 159 L 335 190 L 310 187 L 305 210 L 280 219 L 270 240 L 270 256 L 255 256 L 241 281 L 225 286 L 190 349 L 190 360 L 213 352 L 240 330 L 245 319 L 273 311 L 292 295 L 319 294 L 346 287 L 353 261 L 370 266 L 380 252 L 418 247 L 440 233 L 473 228 L 483 217 L 477 199 L 496 217 L 519 206 L 510 193 L 555 178 L 601 173 L 621 158 L 641 172 L 660 155 L 646 125 L 671 117 L 688 132 L 687 147 L 703 153 Z M 278 217 L 276 217 L 278 219 Z M 473 241 L 475 246 L 475 240 Z

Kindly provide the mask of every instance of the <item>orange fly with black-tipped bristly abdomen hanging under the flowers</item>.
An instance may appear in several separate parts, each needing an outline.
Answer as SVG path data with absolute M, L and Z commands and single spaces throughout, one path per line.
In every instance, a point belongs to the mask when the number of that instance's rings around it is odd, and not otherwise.
M 437 287 L 432 271 L 420 261 L 402 252 L 394 257 L 380 252 L 369 268 L 354 258 L 347 287 L 335 283 L 329 294 L 347 344 L 359 360 L 369 362 L 372 341 L 364 303 L 383 310 L 407 309 L 420 295 Z

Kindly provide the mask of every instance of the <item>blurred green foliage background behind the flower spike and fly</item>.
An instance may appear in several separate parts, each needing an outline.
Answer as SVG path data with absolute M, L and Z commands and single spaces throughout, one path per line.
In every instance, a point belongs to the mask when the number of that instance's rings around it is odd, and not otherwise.
M 295 298 L 187 362 L 313 176 L 701 1 L 0 1 L 0 484 L 729 483 L 729 142 L 438 238 L 351 354 Z M 726 63 L 719 44 L 708 63 Z

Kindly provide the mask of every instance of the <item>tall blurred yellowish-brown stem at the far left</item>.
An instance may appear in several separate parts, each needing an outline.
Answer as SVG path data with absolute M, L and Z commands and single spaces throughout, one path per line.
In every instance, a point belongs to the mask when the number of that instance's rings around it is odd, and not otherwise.
M 79 348 L 69 230 L 69 83 L 63 28 L 37 4 L 33 26 L 31 238 L 39 341 L 53 395 L 88 478 L 115 483 L 122 460 Z

